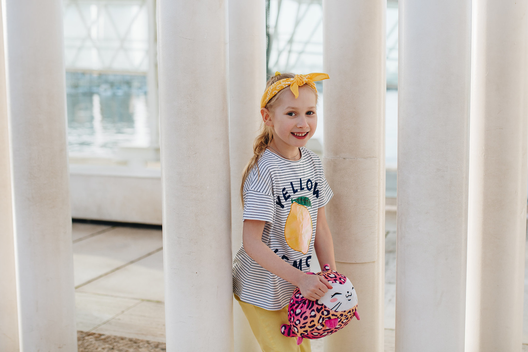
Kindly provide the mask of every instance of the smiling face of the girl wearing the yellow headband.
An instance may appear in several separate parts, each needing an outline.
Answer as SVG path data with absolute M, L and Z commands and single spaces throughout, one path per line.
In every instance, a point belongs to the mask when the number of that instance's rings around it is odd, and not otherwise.
M 296 99 L 289 87 L 278 97 L 279 101 L 273 111 L 261 109 L 262 119 L 273 130 L 273 137 L 278 147 L 304 147 L 317 127 L 315 92 L 312 88 L 301 85 Z

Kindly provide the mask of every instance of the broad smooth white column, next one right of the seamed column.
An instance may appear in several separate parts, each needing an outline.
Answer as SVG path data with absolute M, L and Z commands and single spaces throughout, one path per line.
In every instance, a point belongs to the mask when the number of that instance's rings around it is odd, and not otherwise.
M 395 347 L 463 351 L 471 1 L 399 5 Z

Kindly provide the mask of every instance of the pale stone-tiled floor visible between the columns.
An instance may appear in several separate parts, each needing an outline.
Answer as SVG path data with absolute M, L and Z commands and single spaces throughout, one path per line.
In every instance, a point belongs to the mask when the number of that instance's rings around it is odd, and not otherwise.
M 396 219 L 386 214 L 385 351 L 394 351 Z M 523 351 L 528 352 L 528 246 Z M 77 329 L 165 341 L 162 231 L 73 223 Z M 317 262 L 314 260 L 313 262 Z M 322 352 L 323 341 L 312 341 Z

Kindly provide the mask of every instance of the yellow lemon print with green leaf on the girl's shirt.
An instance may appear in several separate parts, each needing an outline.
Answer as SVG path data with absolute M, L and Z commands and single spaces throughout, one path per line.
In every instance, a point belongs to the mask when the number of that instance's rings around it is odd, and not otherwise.
M 308 207 L 312 206 L 310 198 L 299 197 L 291 200 L 290 213 L 284 226 L 284 236 L 291 249 L 308 253 L 312 242 L 312 217 Z

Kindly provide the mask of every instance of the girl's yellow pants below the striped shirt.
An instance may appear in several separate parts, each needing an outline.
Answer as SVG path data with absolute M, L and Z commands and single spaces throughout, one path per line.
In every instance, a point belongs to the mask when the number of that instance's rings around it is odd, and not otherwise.
M 280 333 L 280 326 L 288 324 L 288 306 L 281 310 L 267 310 L 242 302 L 235 294 L 242 311 L 248 318 L 249 326 L 262 349 L 262 352 L 312 352 L 310 340 L 304 339 L 297 346 L 295 337 L 286 337 Z

